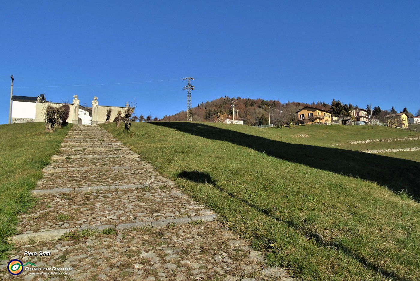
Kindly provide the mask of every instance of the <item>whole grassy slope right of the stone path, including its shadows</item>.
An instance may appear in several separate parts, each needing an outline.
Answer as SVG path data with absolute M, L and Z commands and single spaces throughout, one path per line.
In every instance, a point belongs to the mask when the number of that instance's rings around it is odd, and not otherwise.
M 269 265 L 311 281 L 420 279 L 420 163 L 403 159 L 405 152 L 392 158 L 358 152 L 363 145 L 330 146 L 414 131 L 155 122 L 126 133 L 101 126 L 267 252 Z

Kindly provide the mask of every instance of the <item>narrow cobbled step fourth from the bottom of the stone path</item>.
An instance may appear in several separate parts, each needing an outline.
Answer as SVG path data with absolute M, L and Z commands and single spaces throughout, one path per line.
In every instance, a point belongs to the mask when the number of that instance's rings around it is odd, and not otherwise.
M 141 158 L 100 158 L 100 159 L 63 159 L 53 160 L 45 168 L 77 168 L 77 167 L 103 167 L 103 166 L 141 166 L 145 169 L 153 169 L 153 166 Z

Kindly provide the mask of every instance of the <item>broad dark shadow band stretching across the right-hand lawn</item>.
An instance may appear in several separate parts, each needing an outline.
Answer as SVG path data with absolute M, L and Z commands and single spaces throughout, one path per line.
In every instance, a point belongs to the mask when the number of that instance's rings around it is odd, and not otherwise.
M 151 124 L 198 137 L 231 142 L 312 168 L 374 181 L 395 193 L 406 192 L 413 197 L 413 200 L 420 202 L 418 187 L 420 163 L 415 161 L 333 147 L 319 147 L 310 145 L 310 139 L 307 139 L 308 144 L 280 142 L 202 123 L 152 122 Z M 299 170 L 296 173 L 299 173 Z

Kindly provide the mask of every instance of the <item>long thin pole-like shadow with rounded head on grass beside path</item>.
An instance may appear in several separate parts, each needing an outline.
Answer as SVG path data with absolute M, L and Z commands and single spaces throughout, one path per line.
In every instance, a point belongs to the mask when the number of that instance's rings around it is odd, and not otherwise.
M 297 226 L 292 221 L 281 220 L 276 215 L 273 215 L 276 213 L 276 210 L 270 210 L 268 208 L 261 208 L 255 204 L 252 204 L 251 202 L 247 200 L 237 197 L 235 194 L 226 191 L 220 186 L 217 186 L 215 184 L 215 181 L 211 178 L 211 176 L 208 173 L 200 172 L 200 171 L 182 171 L 181 173 L 178 173 L 177 177 L 181 179 L 186 179 L 195 183 L 199 183 L 199 184 L 211 184 L 215 186 L 215 188 L 218 189 L 223 194 L 228 195 L 230 198 L 233 198 L 234 200 L 239 200 L 240 202 L 246 204 L 247 206 L 252 207 L 252 209 L 257 210 L 259 213 L 262 213 L 270 218 L 273 218 L 274 220 L 278 222 L 286 223 L 288 226 L 290 226 L 291 228 L 294 228 L 296 231 L 301 233 L 307 239 L 315 239 L 317 241 L 317 244 L 320 247 L 331 247 L 331 248 L 335 248 L 337 251 L 344 252 L 349 258 L 357 260 L 360 264 L 362 264 L 368 270 L 373 270 L 376 273 L 380 273 L 382 276 L 384 276 L 385 279 L 392 278 L 393 280 L 396 280 L 396 281 L 413 281 L 411 279 L 399 276 L 399 274 L 394 271 L 386 270 L 382 268 L 381 266 L 372 263 L 366 257 L 358 255 L 352 249 L 350 249 L 349 247 L 346 247 L 345 245 L 342 245 L 338 242 L 324 241 L 322 239 L 319 239 L 317 234 L 312 233 L 306 229 L 303 229 L 301 226 Z

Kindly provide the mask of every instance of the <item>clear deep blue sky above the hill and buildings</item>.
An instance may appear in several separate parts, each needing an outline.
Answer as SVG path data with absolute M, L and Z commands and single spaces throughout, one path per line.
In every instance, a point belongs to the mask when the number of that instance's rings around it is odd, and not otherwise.
M 12 74 L 14 95 L 135 98 L 153 117 L 186 109 L 186 81 L 172 79 L 189 76 L 193 106 L 335 98 L 415 113 L 419 11 L 418 0 L 1 1 L 0 123 Z M 111 85 L 74 86 L 92 84 Z

